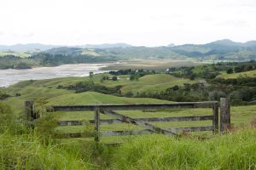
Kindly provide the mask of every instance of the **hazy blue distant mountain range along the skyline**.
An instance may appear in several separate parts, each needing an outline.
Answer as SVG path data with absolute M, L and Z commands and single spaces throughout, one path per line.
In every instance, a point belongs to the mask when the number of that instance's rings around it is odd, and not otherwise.
M 62 54 L 65 56 L 90 56 L 102 59 L 210 59 L 210 60 L 249 60 L 256 59 L 256 41 L 232 42 L 229 39 L 206 44 L 170 44 L 161 47 L 136 47 L 126 43 L 58 46 L 39 43 L 1 46 L 1 50 L 30 51 L 34 58 L 42 54 Z M 6 54 L 6 53 L 5 53 Z M 29 54 L 29 53 L 28 53 Z

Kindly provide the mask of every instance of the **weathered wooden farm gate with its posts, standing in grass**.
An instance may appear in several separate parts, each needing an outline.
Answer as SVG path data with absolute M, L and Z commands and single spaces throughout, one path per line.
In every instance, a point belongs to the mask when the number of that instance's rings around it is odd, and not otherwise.
M 38 119 L 39 115 L 36 113 L 34 103 L 32 101 L 25 102 L 28 116 L 32 120 Z M 95 140 L 99 141 L 101 136 L 121 136 L 121 135 L 137 135 L 148 133 L 163 133 L 166 135 L 177 135 L 179 132 L 195 132 L 195 131 L 212 131 L 218 133 L 218 129 L 223 133 L 230 127 L 230 101 L 222 98 L 220 103 L 218 101 L 206 102 L 180 102 L 173 104 L 124 104 L 124 105 L 54 105 L 51 106 L 50 111 L 95 111 L 94 120 L 90 123 L 95 124 L 96 134 Z M 156 109 L 182 109 L 182 108 L 212 108 L 212 115 L 207 116 L 171 116 L 171 117 L 151 117 L 151 118 L 132 118 L 131 116 L 124 116 L 116 111 L 136 111 L 136 110 L 156 110 Z M 220 108 L 220 121 L 218 119 Z M 101 119 L 101 114 L 112 116 L 114 119 Z M 188 121 L 207 121 L 212 120 L 211 126 L 202 127 L 178 127 L 178 128 L 161 128 L 154 126 L 150 122 L 188 122 Z M 220 122 L 220 128 L 218 126 Z M 121 124 L 131 123 L 143 130 L 137 131 L 100 131 L 101 125 L 106 124 Z M 81 126 L 83 121 L 61 121 L 59 126 Z M 65 133 L 65 136 L 72 138 L 83 137 L 83 133 Z

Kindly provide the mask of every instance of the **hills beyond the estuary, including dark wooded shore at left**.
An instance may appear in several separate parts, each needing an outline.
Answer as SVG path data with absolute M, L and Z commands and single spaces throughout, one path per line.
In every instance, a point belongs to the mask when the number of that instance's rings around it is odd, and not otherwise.
M 245 61 L 256 59 L 256 41 L 232 42 L 228 39 L 206 44 L 134 47 L 125 43 L 81 45 L 74 47 L 44 46 L 42 44 L 0 48 L 0 69 L 29 68 L 40 65 L 108 62 L 133 59 L 195 59 L 199 61 Z M 19 51 L 11 50 L 19 47 Z M 22 51 L 22 47 L 24 50 Z M 36 47 L 32 49 L 32 47 Z M 52 48 L 50 48 L 52 47 Z M 2 46 L 3 48 L 3 46 Z M 40 50 L 44 49 L 44 50 Z M 46 50 L 45 50 L 46 49 Z M 21 50 L 21 51 L 20 51 Z

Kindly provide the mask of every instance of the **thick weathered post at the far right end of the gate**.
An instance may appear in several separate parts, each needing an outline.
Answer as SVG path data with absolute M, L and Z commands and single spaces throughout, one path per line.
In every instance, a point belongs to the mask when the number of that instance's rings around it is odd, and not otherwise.
M 230 129 L 230 99 L 221 98 L 220 99 L 220 131 Z

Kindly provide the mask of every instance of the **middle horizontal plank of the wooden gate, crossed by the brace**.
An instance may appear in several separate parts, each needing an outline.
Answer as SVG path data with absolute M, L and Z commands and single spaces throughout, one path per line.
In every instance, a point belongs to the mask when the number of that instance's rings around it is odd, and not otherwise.
M 180 116 L 180 117 L 150 117 L 150 118 L 134 118 L 137 121 L 143 122 L 187 122 L 187 121 L 207 121 L 212 120 L 213 116 Z M 90 123 L 95 123 L 95 120 L 89 120 Z M 101 125 L 122 124 L 118 119 L 103 119 Z M 60 121 L 59 126 L 84 126 L 84 121 Z

